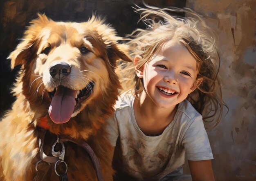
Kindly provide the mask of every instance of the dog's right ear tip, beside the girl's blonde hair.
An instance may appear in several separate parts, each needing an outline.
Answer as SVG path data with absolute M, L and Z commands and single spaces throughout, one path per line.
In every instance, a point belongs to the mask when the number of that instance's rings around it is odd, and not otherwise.
M 112 43 L 108 47 L 108 58 L 110 60 L 124 60 L 126 62 L 132 62 L 132 58 L 129 56 L 128 51 L 128 45 Z

